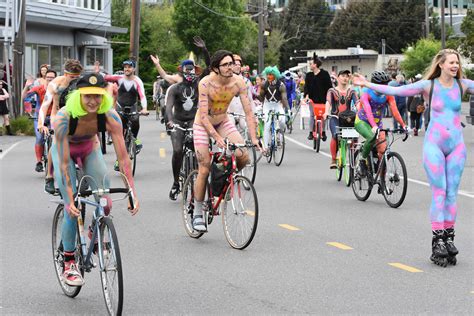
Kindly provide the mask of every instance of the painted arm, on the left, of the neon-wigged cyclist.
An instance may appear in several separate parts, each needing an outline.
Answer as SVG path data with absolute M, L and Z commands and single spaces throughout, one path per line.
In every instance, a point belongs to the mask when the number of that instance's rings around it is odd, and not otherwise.
M 61 181 L 64 188 L 66 188 L 66 194 L 69 200 L 69 205 L 66 206 L 66 210 L 72 216 L 78 216 L 79 210 L 74 205 L 74 194 L 71 182 L 71 175 L 69 173 L 69 114 L 65 109 L 59 111 L 54 121 L 54 141 L 59 157 L 59 168 L 61 170 L 61 178 L 56 181 Z

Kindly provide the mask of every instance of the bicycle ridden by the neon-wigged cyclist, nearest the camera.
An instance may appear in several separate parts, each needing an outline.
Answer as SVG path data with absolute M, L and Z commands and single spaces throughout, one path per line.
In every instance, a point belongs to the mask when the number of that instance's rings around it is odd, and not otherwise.
M 122 175 L 123 176 L 123 175 Z M 92 179 L 90 176 L 83 176 L 79 181 L 78 188 L 83 188 L 83 181 Z M 89 181 L 89 180 L 87 180 Z M 94 181 L 92 179 L 92 181 Z M 104 206 L 107 205 L 107 199 L 104 194 L 125 193 L 121 199 L 129 198 L 133 209 L 134 198 L 129 188 L 110 188 L 87 190 L 79 189 L 76 194 L 76 205 L 81 205 L 81 214 L 77 218 L 76 250 L 75 261 L 82 276 L 84 272 L 91 272 L 92 268 L 97 267 L 92 255 L 95 253 L 98 257 L 99 273 L 101 276 L 102 292 L 107 312 L 110 315 L 121 315 L 123 308 L 123 272 L 122 259 L 120 254 L 117 233 L 112 222 L 112 217 L 105 214 Z M 99 202 L 91 201 L 86 197 L 95 195 Z M 117 201 L 117 200 L 116 200 Z M 52 250 L 53 264 L 56 271 L 56 277 L 62 291 L 68 297 L 76 297 L 82 289 L 82 286 L 70 286 L 63 279 L 64 272 L 64 249 L 61 240 L 64 201 L 58 202 L 58 207 L 53 217 L 52 227 Z M 92 213 L 92 220 L 89 229 L 92 228 L 92 237 L 87 245 L 87 237 L 84 232 L 85 206 L 90 205 L 95 208 Z

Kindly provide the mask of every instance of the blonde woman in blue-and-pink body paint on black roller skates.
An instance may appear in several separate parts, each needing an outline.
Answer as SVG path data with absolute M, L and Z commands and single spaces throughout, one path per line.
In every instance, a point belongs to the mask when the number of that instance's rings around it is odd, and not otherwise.
M 381 86 L 367 82 L 362 76 L 354 84 L 389 95 L 431 96 L 431 119 L 423 142 L 423 166 L 431 186 L 430 207 L 432 229 L 431 260 L 446 266 L 455 263 L 458 250 L 454 246 L 457 216 L 457 193 L 466 162 L 466 146 L 461 127 L 462 92 L 474 94 L 474 81 L 463 79 L 461 58 L 452 49 L 441 50 L 431 63 L 425 80 L 402 87 Z M 448 258 L 448 259 L 447 259 Z

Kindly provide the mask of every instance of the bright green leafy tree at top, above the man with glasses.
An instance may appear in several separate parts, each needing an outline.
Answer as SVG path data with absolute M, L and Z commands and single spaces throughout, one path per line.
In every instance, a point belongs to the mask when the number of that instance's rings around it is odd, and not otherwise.
M 240 54 L 254 22 L 244 14 L 242 0 L 176 0 L 173 20 L 178 37 L 189 51 L 199 53 L 193 37 L 200 36 L 209 52 L 227 49 Z

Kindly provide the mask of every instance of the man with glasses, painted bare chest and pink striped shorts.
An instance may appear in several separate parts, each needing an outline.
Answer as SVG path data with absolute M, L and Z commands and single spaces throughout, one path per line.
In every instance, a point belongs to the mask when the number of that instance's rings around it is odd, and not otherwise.
M 233 54 L 225 50 L 217 51 L 211 58 L 210 67 L 211 74 L 199 82 L 199 106 L 193 125 L 194 147 L 199 165 L 194 189 L 193 228 L 199 232 L 207 231 L 203 218 L 203 200 L 211 167 L 209 137 L 214 138 L 220 148 L 226 146 L 225 139 L 231 143 L 244 142 L 227 116 L 227 108 L 236 95 L 239 95 L 242 101 L 252 143 L 258 148 L 255 118 L 250 106 L 247 85 L 243 78 L 233 73 Z M 237 167 L 239 169 L 245 167 L 248 162 L 247 152 L 238 151 L 236 157 Z

